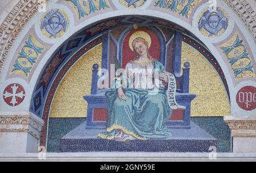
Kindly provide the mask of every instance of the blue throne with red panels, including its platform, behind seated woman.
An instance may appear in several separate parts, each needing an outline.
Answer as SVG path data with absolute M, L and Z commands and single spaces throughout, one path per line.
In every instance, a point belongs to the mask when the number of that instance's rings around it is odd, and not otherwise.
M 176 101 L 185 109 L 172 110 L 171 118 L 166 124 L 168 128 L 171 128 L 172 136 L 163 140 L 133 140 L 129 145 L 98 138 L 97 135 L 106 129 L 108 105 L 105 93 L 110 89 L 99 89 L 97 87 L 100 66 L 94 64 L 92 67 L 91 93 L 84 96 L 88 103 L 86 121 L 61 138 L 61 152 L 208 152 L 210 146 L 217 147 L 216 139 L 191 121 L 191 101 L 196 98 L 196 95 L 189 93 L 189 62 L 183 64 L 182 75 L 180 75 L 182 33 L 175 31 L 168 37 L 168 35 L 163 36 L 163 32 L 159 32 L 158 28 L 139 28 L 138 30 L 151 34 L 150 36 L 157 42 L 154 42 L 155 45 L 151 45 L 154 49 L 154 51 L 151 50 L 151 55 L 159 57 L 158 61 L 166 67 L 166 71 L 174 74 L 176 78 Z M 117 37 L 118 34 L 119 37 Z M 109 69 L 110 64 L 116 64 L 115 62 L 119 62 L 119 67 L 124 68 L 127 62 L 130 61 L 129 57 L 135 57 L 132 54 L 133 52 L 129 53 L 130 50 L 125 49 L 132 34 L 132 27 L 125 29 L 122 33 L 120 31 L 104 33 L 102 36 L 101 68 Z M 156 50 L 155 48 L 159 49 Z M 154 56 L 154 53 L 156 55 L 159 53 L 159 56 Z M 126 54 L 130 56 L 126 57 Z

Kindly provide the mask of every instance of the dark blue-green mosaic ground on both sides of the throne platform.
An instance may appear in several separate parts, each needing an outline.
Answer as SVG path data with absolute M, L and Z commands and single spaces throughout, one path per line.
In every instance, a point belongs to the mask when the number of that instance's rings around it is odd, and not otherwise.
M 192 117 L 191 119 L 201 129 L 217 139 L 218 152 L 230 152 L 230 129 L 223 117 Z M 47 151 L 59 153 L 61 138 L 84 123 L 85 120 L 85 118 L 50 118 Z

